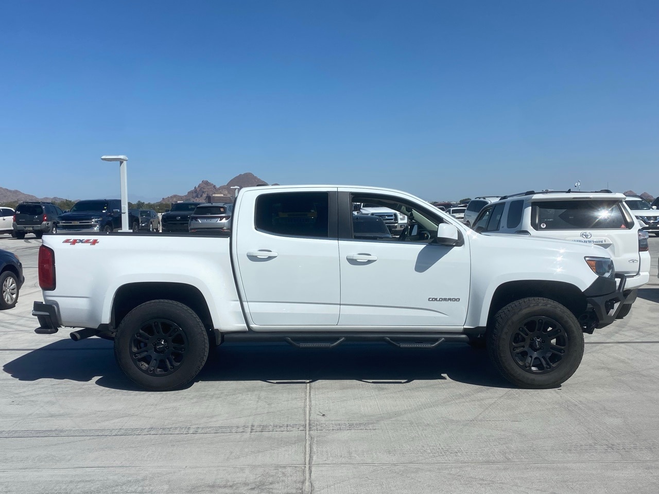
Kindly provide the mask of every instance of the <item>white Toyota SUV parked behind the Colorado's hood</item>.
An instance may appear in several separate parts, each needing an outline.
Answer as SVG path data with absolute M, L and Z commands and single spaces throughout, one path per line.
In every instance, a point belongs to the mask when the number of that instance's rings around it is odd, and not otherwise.
M 648 234 L 625 203 L 624 194 L 601 192 L 523 192 L 484 207 L 472 226 L 484 234 L 523 234 L 561 238 L 606 249 L 616 277 L 631 294 L 619 317 L 629 314 L 636 290 L 650 278 Z

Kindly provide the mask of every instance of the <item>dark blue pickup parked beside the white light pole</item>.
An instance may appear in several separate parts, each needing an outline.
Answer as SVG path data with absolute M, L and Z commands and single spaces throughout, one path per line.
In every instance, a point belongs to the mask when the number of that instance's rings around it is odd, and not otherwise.
M 129 213 L 129 228 L 139 219 Z M 61 233 L 112 232 L 121 230 L 121 200 L 78 201 L 59 218 Z

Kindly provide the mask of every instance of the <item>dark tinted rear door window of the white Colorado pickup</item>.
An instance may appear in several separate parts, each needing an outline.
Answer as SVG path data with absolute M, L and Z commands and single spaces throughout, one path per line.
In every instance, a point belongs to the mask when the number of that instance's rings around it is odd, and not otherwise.
M 263 194 L 256 200 L 254 225 L 278 235 L 329 236 L 327 192 Z

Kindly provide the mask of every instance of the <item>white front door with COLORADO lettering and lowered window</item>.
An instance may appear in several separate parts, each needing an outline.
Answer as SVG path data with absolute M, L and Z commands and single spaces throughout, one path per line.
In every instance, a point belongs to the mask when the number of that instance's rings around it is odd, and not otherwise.
M 350 232 L 339 240 L 339 327 L 462 327 L 471 276 L 467 239 L 459 246 L 434 244 L 439 223 L 450 220 L 430 206 L 395 196 L 351 196 L 353 203 L 374 201 L 400 211 L 409 223 L 391 235 L 377 225 L 365 227 L 372 223 L 368 216 L 339 217 L 351 223 L 349 229 L 339 225 L 342 237 Z

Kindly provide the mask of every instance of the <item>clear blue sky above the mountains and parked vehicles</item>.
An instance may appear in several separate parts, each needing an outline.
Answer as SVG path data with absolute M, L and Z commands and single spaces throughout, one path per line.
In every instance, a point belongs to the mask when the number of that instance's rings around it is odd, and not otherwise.
M 658 1 L 5 1 L 0 186 L 659 195 Z

